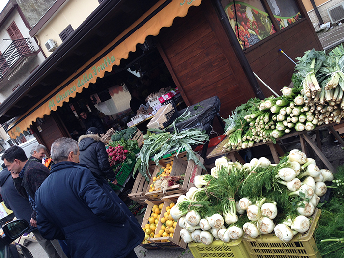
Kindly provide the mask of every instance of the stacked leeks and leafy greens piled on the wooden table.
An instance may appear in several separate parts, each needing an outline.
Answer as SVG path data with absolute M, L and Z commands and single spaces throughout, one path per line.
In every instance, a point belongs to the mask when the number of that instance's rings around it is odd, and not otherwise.
M 223 152 L 275 141 L 295 131 L 312 131 L 316 126 L 340 123 L 344 117 L 344 48 L 328 55 L 307 51 L 298 57 L 293 88 L 284 87 L 282 96 L 251 99 L 224 119 L 229 142 Z

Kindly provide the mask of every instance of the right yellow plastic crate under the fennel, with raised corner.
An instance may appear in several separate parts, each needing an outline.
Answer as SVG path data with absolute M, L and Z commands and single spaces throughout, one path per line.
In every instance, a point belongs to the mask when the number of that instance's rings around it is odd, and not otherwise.
M 313 237 L 320 214 L 321 210 L 315 208 L 310 229 L 298 233 L 288 243 L 283 243 L 275 234 L 268 234 L 245 237 L 243 244 L 252 258 L 321 258 Z

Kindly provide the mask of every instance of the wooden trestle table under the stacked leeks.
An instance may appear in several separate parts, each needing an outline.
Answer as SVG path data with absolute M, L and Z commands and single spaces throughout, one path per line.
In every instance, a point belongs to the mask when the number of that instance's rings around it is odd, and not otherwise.
M 341 123 L 343 123 L 343 121 L 341 121 Z M 344 141 L 343 139 L 339 136 L 339 134 L 337 133 L 337 131 L 333 128 L 333 125 L 335 125 L 336 123 L 331 123 L 331 124 L 324 124 L 324 125 L 320 125 L 317 126 L 315 128 L 315 133 L 316 133 L 316 138 L 317 138 L 317 143 L 318 145 L 315 144 L 315 142 L 313 142 L 313 140 L 311 139 L 311 137 L 307 134 L 308 132 L 311 131 L 302 131 L 302 132 L 292 132 L 292 133 L 288 133 L 285 134 L 284 136 L 277 138 L 276 142 L 279 140 L 283 140 L 289 137 L 293 137 L 293 136 L 300 136 L 300 143 L 301 143 L 301 148 L 302 151 L 305 152 L 306 151 L 306 144 L 305 141 L 311 146 L 311 148 L 315 151 L 315 153 L 319 156 L 319 158 L 321 159 L 321 161 L 326 165 L 326 167 L 331 171 L 331 172 L 335 172 L 335 168 L 333 167 L 333 165 L 331 164 L 331 162 L 325 157 L 325 155 L 321 152 L 321 143 L 320 143 L 320 137 L 319 137 L 319 129 L 322 128 L 328 128 L 331 133 L 338 139 L 339 143 L 342 144 L 342 146 L 344 147 Z M 228 143 L 228 137 L 226 136 L 226 138 L 219 143 L 212 152 L 209 153 L 209 155 L 207 156 L 207 158 L 213 158 L 213 157 L 217 157 L 217 156 L 221 156 L 221 155 L 228 155 L 229 158 L 232 161 L 236 161 L 238 160 L 241 163 L 245 163 L 245 161 L 242 159 L 242 157 L 240 156 L 240 154 L 238 153 L 237 150 L 231 150 L 229 152 L 222 152 L 222 148 L 223 146 Z M 282 148 L 280 147 L 280 145 L 278 143 L 274 144 L 273 142 L 259 142 L 259 143 L 254 143 L 252 147 L 256 147 L 256 146 L 260 146 L 260 145 L 268 145 L 272 154 L 272 157 L 274 159 L 275 163 L 279 162 L 279 155 L 283 156 L 284 155 L 284 151 L 282 150 Z

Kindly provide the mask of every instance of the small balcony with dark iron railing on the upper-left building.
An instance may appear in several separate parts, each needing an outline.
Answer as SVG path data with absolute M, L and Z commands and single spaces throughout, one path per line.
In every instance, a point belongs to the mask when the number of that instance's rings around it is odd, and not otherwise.
M 0 80 L 18 66 L 22 66 L 28 57 L 33 55 L 37 55 L 37 53 L 29 38 L 13 40 L 0 56 Z

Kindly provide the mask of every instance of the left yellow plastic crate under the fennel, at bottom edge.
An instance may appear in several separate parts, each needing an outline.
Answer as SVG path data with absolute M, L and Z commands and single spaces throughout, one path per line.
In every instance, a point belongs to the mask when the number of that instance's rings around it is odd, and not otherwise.
M 215 240 L 210 245 L 203 243 L 189 243 L 191 253 L 195 258 L 211 258 L 211 257 L 234 257 L 234 258 L 250 258 L 246 251 L 242 238 L 231 240 L 224 243 L 221 240 Z

